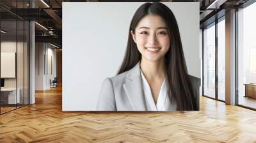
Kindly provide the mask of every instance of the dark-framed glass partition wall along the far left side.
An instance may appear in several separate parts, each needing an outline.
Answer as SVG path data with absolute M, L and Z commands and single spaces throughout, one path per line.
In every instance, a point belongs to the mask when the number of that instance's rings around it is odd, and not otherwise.
M 12 4 L 25 8 L 26 2 Z M 0 114 L 4 114 L 29 104 L 29 22 L 1 6 L 0 29 Z

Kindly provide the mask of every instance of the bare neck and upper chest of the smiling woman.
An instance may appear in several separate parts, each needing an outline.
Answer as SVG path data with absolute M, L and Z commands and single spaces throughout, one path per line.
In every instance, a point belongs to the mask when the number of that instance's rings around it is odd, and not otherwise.
M 148 61 L 141 58 L 140 68 L 147 80 L 164 79 L 166 76 L 164 58 L 159 61 Z

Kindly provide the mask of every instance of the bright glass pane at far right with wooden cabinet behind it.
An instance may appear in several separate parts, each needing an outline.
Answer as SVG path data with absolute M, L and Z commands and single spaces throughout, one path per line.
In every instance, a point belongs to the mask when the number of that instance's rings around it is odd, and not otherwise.
M 256 109 L 256 3 L 238 11 L 238 104 Z

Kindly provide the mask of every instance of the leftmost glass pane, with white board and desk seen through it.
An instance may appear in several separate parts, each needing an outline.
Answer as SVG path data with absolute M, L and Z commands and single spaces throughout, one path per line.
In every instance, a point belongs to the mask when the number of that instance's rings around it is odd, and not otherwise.
M 16 109 L 17 22 L 1 21 L 1 114 Z M 19 95 L 19 94 L 18 94 Z

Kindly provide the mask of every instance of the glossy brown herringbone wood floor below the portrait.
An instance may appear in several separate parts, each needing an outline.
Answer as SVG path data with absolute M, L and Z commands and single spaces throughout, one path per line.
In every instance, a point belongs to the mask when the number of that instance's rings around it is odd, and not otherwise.
M 256 112 L 200 98 L 200 112 L 62 112 L 61 87 L 0 116 L 0 142 L 256 142 Z

